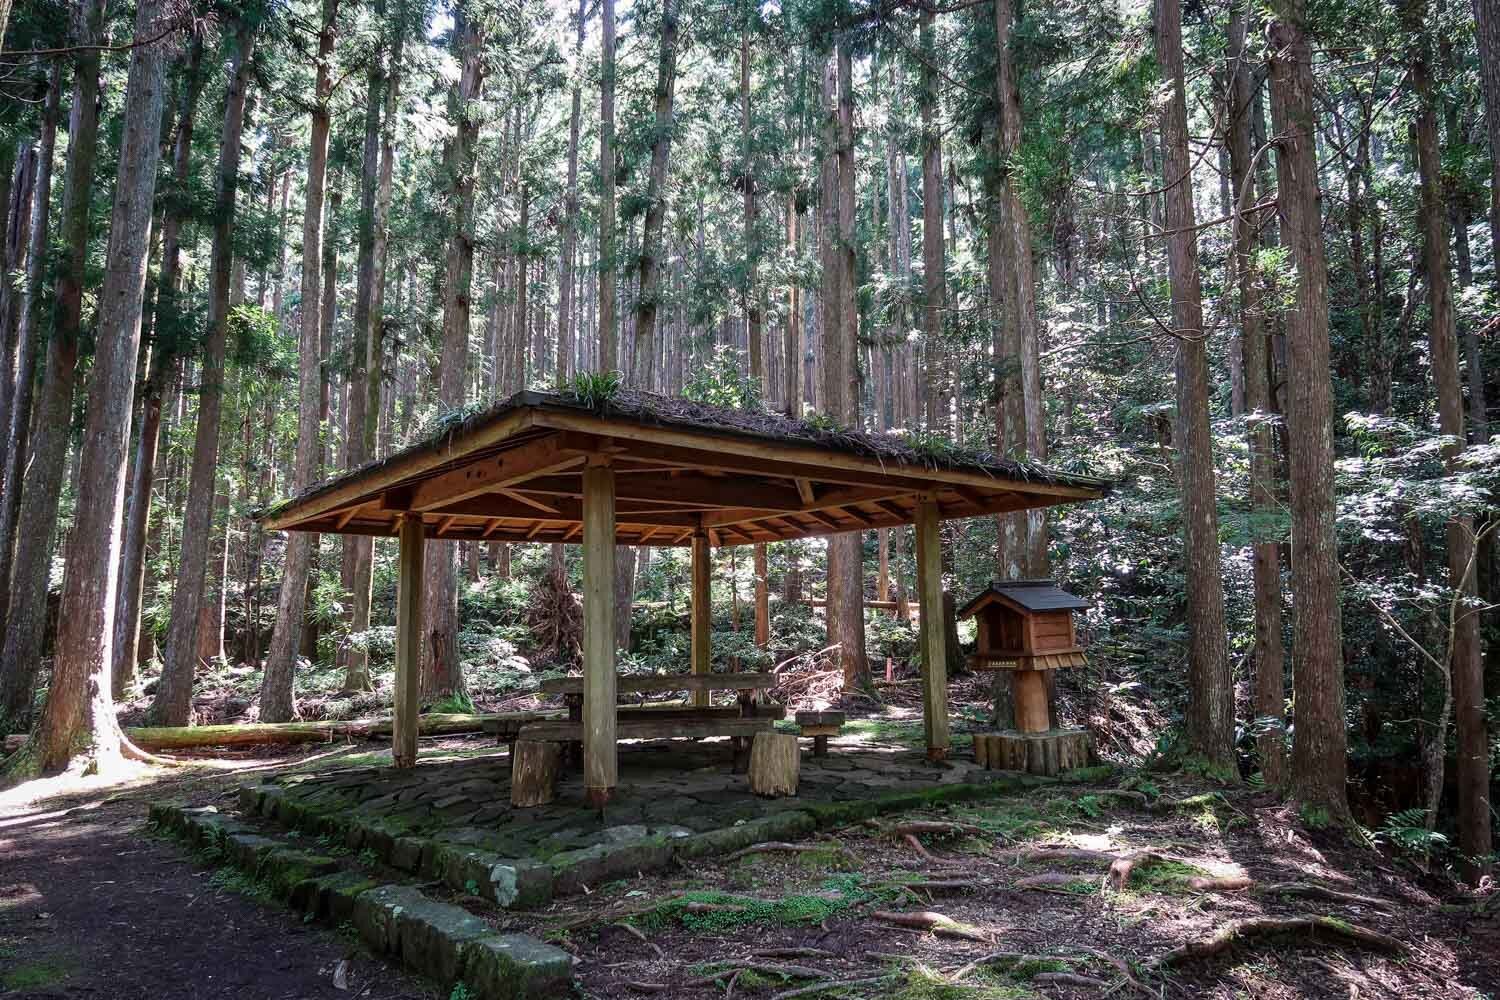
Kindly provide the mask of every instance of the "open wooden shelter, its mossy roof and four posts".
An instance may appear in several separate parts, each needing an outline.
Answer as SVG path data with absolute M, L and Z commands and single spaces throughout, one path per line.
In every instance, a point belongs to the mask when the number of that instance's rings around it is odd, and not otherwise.
M 428 441 L 262 514 L 268 529 L 400 538 L 398 766 L 416 760 L 424 541 L 584 546 L 584 777 L 616 784 L 615 546 L 690 546 L 694 673 L 706 673 L 708 556 L 735 546 L 915 525 L 928 754 L 950 745 L 938 525 L 1094 499 L 1104 480 L 993 456 L 926 451 L 888 435 L 620 393 L 588 406 L 518 393 Z

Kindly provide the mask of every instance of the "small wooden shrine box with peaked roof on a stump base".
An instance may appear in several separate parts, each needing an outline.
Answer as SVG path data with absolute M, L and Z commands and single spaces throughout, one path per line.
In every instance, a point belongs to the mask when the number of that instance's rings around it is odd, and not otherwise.
M 1010 673 L 1016 705 L 1014 730 L 974 738 L 980 763 L 1047 775 L 1088 763 L 1088 733 L 1053 729 L 1046 678 L 1047 670 L 1088 663 L 1072 622 L 1088 606 L 1052 580 L 1006 580 L 990 583 L 958 612 L 978 625 L 969 666 Z

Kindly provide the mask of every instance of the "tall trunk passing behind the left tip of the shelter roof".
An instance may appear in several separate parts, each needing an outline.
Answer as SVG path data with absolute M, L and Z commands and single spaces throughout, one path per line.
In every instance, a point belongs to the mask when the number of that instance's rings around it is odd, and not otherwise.
M 328 174 L 328 99 L 333 91 L 333 42 L 338 30 L 339 0 L 322 0 L 318 30 L 318 70 L 314 90 L 312 129 L 308 142 L 308 183 L 302 217 L 302 309 L 297 336 L 297 454 L 292 462 L 291 489 L 296 493 L 318 477 L 321 453 L 318 411 L 322 402 L 321 309 L 322 301 L 322 195 Z M 276 627 L 261 675 L 261 721 L 285 723 L 297 715 L 292 669 L 302 642 L 308 609 L 308 568 L 316 535 L 294 531 L 286 538 L 280 594 L 276 600 Z

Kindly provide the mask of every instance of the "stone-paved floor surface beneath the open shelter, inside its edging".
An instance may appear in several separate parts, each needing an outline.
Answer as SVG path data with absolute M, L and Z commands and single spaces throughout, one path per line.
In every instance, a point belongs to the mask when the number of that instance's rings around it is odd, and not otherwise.
M 549 858 L 632 837 L 722 829 L 810 802 L 852 802 L 996 777 L 972 760 L 934 768 L 909 747 L 846 736 L 826 757 L 813 757 L 804 744 L 798 795 L 783 799 L 750 793 L 746 775 L 732 771 L 728 741 L 624 744 L 620 787 L 603 817 L 584 805 L 578 771 L 564 775 L 550 805 L 513 808 L 510 757 L 500 748 L 480 757 L 440 756 L 402 772 L 344 768 L 284 775 L 276 783 L 318 813 L 380 822 L 506 858 Z

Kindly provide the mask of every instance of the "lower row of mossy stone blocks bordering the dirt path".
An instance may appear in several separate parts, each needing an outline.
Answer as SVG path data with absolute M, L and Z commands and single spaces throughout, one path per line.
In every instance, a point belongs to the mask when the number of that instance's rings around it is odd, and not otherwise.
M 372 951 L 444 990 L 462 982 L 470 996 L 484 1000 L 540 1000 L 570 991 L 572 955 L 525 934 L 500 934 L 468 910 L 432 900 L 416 886 L 382 885 L 332 855 L 267 835 L 256 823 L 224 816 L 212 805 L 156 804 L 150 819 L 158 829 L 214 853 L 309 918 L 333 927 L 352 924 Z M 483 862 L 472 864 L 476 871 L 483 868 Z

